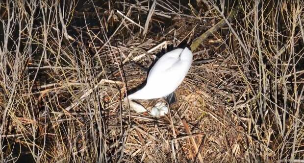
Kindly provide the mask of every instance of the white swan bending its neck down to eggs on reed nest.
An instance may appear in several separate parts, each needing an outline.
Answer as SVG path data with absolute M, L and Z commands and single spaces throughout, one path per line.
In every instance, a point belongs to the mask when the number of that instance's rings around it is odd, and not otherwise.
M 193 54 L 187 47 L 177 48 L 164 54 L 155 63 L 148 74 L 147 84 L 135 93 L 129 94 L 124 101 L 138 113 L 147 112 L 133 99 L 162 98 L 173 93 L 187 75 Z

